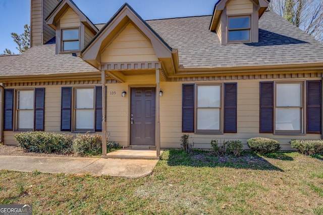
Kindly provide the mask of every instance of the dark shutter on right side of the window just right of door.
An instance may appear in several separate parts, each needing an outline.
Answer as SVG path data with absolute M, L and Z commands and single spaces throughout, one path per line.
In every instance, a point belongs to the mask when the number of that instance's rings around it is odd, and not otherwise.
M 237 133 L 237 83 L 224 84 L 224 132 Z

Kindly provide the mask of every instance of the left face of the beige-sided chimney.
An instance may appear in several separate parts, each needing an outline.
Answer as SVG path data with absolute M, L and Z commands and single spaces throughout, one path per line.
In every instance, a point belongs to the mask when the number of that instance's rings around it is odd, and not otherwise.
M 31 1 L 31 44 L 41 45 L 42 44 L 42 13 L 41 13 L 41 0 Z

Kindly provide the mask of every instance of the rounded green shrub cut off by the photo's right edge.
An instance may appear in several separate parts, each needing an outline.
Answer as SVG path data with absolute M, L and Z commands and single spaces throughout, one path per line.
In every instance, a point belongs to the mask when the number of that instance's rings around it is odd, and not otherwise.
M 322 139 L 295 139 L 290 141 L 291 147 L 304 155 L 323 153 Z

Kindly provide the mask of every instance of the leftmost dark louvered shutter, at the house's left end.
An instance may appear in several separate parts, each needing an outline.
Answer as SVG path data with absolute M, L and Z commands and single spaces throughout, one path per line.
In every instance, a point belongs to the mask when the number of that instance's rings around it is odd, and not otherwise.
M 5 89 L 4 130 L 13 130 L 14 89 Z

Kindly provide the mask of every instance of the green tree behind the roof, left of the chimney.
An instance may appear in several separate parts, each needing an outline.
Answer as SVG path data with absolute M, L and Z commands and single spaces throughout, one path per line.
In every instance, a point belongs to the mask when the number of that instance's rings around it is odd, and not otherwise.
M 22 34 L 17 34 L 17 33 L 11 33 L 11 37 L 14 39 L 14 41 L 17 43 L 18 47 L 17 50 L 19 53 L 23 53 L 28 50 L 29 44 L 30 44 L 30 28 L 26 24 L 24 26 L 24 33 Z M 4 55 L 10 55 L 10 54 L 15 54 L 12 52 L 10 49 L 7 49 L 3 53 Z

